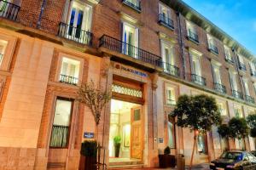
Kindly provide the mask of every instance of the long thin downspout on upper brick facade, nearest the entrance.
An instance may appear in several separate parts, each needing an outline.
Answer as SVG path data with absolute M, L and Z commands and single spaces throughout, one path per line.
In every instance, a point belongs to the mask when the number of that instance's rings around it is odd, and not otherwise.
M 182 55 L 182 63 L 183 63 L 183 79 L 186 80 L 186 71 L 185 71 L 185 57 L 184 57 L 184 45 L 183 45 L 183 33 L 182 33 L 182 27 L 181 27 L 181 20 L 180 20 L 180 13 L 177 12 L 177 27 L 178 27 L 178 37 L 179 37 L 179 47 L 180 47 L 180 52 Z

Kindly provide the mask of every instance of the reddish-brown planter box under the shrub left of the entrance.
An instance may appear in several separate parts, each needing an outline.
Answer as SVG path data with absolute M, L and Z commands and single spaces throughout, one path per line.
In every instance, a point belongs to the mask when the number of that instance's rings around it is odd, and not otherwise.
M 96 170 L 96 156 L 80 156 L 79 170 Z

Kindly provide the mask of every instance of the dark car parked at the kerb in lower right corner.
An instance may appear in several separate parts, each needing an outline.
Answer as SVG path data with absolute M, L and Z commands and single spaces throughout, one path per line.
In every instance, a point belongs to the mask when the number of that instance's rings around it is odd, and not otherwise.
M 256 157 L 245 150 L 227 150 L 217 160 L 211 161 L 212 170 L 256 169 Z

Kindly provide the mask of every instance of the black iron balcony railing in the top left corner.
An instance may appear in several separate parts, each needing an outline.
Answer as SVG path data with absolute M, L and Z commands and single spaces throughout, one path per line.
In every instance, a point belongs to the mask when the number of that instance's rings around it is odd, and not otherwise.
M 7 1 L 0 0 L 0 17 L 8 20 L 17 20 L 20 7 L 14 3 L 8 3 Z

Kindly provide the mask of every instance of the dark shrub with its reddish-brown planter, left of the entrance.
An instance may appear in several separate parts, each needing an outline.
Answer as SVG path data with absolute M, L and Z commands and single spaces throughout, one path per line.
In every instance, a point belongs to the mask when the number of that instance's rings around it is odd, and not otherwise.
M 79 170 L 96 170 L 97 143 L 95 140 L 85 140 L 80 150 Z

